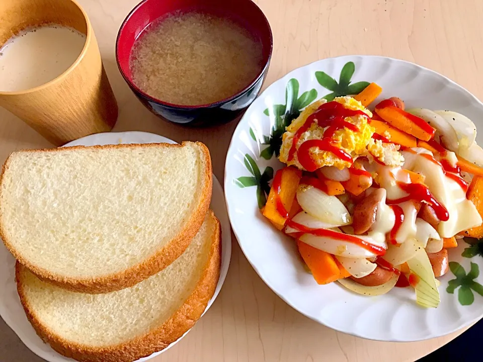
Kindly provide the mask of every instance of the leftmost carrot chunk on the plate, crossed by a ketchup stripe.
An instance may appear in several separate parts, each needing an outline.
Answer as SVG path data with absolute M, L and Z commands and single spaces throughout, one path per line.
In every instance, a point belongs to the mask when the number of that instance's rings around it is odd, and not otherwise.
M 280 215 L 277 209 L 278 198 L 285 208 L 290 210 L 292 208 L 293 200 L 297 192 L 298 183 L 302 177 L 302 172 L 294 167 L 284 167 L 277 171 L 281 172 L 280 195 L 274 190 L 273 186 L 268 195 L 267 204 L 263 210 L 263 216 L 274 223 L 277 229 L 282 230 L 287 218 L 285 215 Z

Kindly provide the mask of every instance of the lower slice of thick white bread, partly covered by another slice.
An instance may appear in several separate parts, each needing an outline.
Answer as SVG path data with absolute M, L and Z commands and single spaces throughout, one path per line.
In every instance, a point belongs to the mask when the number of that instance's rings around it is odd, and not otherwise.
M 220 240 L 219 221 L 209 211 L 186 251 L 133 287 L 70 292 L 17 263 L 17 290 L 37 334 L 60 354 L 79 361 L 132 361 L 164 349 L 200 318 L 218 283 Z

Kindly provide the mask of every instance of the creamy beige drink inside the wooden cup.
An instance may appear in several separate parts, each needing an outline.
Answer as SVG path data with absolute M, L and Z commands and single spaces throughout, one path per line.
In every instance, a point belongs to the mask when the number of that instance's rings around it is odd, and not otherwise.
M 60 25 L 20 32 L 0 48 L 0 92 L 25 91 L 58 77 L 85 43 L 84 34 Z

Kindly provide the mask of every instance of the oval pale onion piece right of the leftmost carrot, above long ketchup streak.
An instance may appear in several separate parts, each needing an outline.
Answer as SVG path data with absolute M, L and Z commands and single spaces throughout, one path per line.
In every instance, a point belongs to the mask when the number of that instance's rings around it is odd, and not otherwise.
M 335 196 L 313 186 L 300 185 L 297 190 L 297 201 L 307 214 L 332 225 L 349 225 L 352 216 L 346 207 Z

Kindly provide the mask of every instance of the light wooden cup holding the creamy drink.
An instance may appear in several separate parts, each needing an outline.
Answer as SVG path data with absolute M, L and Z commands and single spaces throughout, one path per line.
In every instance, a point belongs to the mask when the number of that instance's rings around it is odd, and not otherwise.
M 56 146 L 114 127 L 118 107 L 96 36 L 73 0 L 0 2 L 0 48 L 27 27 L 60 24 L 86 35 L 77 60 L 57 78 L 21 92 L 0 92 L 6 108 Z

